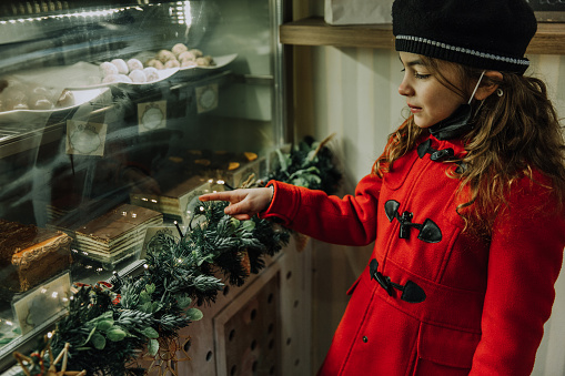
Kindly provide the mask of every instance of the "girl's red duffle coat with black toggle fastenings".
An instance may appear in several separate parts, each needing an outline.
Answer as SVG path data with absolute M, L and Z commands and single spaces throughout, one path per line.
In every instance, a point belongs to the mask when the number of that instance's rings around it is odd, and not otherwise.
M 465 152 L 460 141 L 430 140 L 435 150 Z M 262 217 L 324 242 L 375 242 L 376 263 L 347 292 L 319 375 L 531 374 L 562 266 L 564 215 L 547 187 L 523 177 L 492 237 L 474 236 L 455 211 L 460 182 L 445 173 L 453 167 L 413 150 L 343 199 L 270 182 Z M 403 295 L 407 285 L 416 285 L 415 298 Z

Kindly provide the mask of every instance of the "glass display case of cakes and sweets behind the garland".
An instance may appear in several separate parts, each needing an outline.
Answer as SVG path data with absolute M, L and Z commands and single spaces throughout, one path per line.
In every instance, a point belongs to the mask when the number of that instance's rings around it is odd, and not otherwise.
M 276 0 L 0 4 L 0 369 L 284 140 Z

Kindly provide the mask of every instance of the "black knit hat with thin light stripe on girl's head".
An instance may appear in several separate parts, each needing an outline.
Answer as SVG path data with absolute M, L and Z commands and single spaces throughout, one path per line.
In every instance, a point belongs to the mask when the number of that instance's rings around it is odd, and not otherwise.
M 537 30 L 524 0 L 395 0 L 396 50 L 523 74 Z

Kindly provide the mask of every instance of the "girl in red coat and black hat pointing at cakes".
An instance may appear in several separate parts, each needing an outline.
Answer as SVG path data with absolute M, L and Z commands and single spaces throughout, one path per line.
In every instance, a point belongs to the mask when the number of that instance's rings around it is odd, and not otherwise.
M 208 194 L 337 244 L 375 242 L 320 375 L 529 375 L 565 246 L 564 140 L 523 75 L 524 0 L 396 0 L 412 115 L 354 195 Z

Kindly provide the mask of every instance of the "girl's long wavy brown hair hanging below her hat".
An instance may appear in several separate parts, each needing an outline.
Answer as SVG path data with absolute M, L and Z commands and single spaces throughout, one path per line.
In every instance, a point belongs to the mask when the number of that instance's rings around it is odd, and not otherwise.
M 421 57 L 431 73 L 446 88 L 467 101 L 483 70 Z M 445 64 L 457 72 L 460 82 L 450 82 L 441 73 Z M 565 195 L 565 142 L 557 113 L 547 98 L 545 83 L 536 78 L 503 72 L 502 80 L 484 75 L 481 85 L 498 84 L 495 93 L 477 104 L 475 126 L 464 136 L 464 169 L 448 169 L 460 179 L 457 211 L 475 228 L 492 228 L 494 216 L 505 204 L 511 185 L 537 170 L 551 179 L 562 209 Z M 463 88 L 463 89 L 462 89 Z M 408 118 L 389 136 L 385 152 L 373 166 L 377 175 L 393 169 L 394 161 L 414 149 L 428 134 Z M 462 194 L 464 192 L 464 194 Z M 501 197 L 503 200 L 501 200 Z

